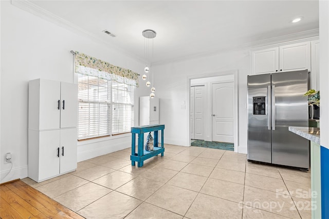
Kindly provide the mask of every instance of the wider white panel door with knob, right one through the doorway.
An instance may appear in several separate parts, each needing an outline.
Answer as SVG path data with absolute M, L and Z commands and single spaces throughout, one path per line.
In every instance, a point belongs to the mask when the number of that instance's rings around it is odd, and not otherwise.
M 234 82 L 212 84 L 212 141 L 234 142 Z

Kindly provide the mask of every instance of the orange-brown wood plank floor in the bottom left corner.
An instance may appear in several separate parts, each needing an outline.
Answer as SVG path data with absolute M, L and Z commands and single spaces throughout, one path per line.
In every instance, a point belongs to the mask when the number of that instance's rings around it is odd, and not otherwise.
M 22 181 L 0 186 L 0 218 L 84 218 Z

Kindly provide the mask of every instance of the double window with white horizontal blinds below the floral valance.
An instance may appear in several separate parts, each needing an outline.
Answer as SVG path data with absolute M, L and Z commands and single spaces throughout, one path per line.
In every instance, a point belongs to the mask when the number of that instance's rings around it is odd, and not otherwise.
M 78 73 L 78 140 L 130 132 L 134 86 Z

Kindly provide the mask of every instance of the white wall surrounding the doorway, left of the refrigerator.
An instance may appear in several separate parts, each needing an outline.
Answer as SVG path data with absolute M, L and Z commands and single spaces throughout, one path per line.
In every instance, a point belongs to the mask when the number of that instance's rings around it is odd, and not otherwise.
M 154 66 L 156 95 L 160 98 L 160 124 L 165 124 L 165 143 L 189 146 L 188 98 L 189 80 L 216 76 L 221 72 L 238 70 L 239 147 L 247 148 L 247 74 L 250 71 L 249 51 L 189 59 Z M 186 103 L 186 107 L 182 106 Z M 206 135 L 209 133 L 205 133 Z

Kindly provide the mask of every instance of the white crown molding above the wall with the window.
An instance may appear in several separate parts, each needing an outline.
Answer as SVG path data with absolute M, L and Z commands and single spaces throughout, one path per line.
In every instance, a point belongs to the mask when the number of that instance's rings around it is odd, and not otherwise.
M 97 43 L 101 42 L 103 44 L 105 44 L 106 46 L 109 46 L 111 47 L 111 49 L 115 49 L 117 51 L 120 51 L 120 53 L 130 57 L 130 58 L 133 58 L 135 59 L 136 61 L 138 62 L 141 62 L 141 63 L 144 63 L 145 61 L 140 58 L 139 56 L 136 56 L 136 55 L 132 55 L 130 54 L 129 52 L 127 52 L 126 50 L 122 49 L 122 48 L 119 48 L 118 46 L 116 46 L 115 44 L 111 43 L 111 42 L 108 42 L 108 41 L 105 41 L 104 39 L 102 39 L 101 37 L 71 23 L 71 22 L 68 22 L 66 21 L 66 19 L 63 19 L 62 17 L 60 16 L 57 16 L 56 14 L 53 14 L 33 3 L 31 3 L 30 1 L 28 0 L 11 0 L 11 5 L 17 7 L 17 8 L 20 8 L 24 11 L 27 11 L 35 16 L 38 16 L 40 18 L 43 18 L 53 24 L 56 24 L 60 27 L 63 27 L 65 29 L 68 29 L 72 32 L 75 32 L 76 34 L 78 35 L 81 35 L 83 34 L 84 36 L 87 36 L 88 38 L 92 39 L 93 41 L 96 40 Z

